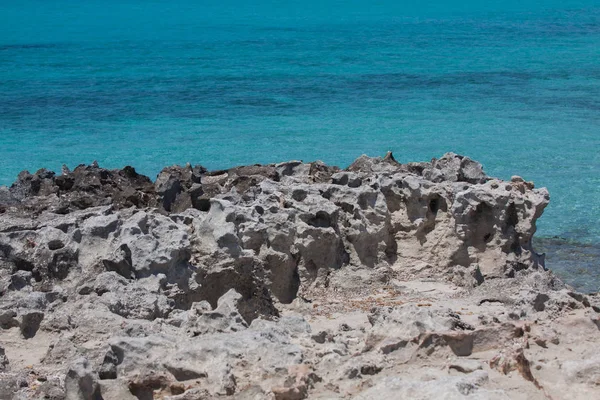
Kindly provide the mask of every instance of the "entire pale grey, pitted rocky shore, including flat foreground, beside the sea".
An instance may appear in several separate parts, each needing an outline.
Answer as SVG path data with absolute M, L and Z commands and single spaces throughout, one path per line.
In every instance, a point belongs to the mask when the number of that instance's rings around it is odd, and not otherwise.
M 1 399 L 590 399 L 600 297 L 467 157 L 0 188 Z

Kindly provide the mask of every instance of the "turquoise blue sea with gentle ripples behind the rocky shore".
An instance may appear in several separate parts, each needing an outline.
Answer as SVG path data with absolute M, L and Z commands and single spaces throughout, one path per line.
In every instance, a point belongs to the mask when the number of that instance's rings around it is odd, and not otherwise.
M 550 190 L 538 248 L 600 286 L 600 0 L 0 0 L 0 184 L 447 151 Z

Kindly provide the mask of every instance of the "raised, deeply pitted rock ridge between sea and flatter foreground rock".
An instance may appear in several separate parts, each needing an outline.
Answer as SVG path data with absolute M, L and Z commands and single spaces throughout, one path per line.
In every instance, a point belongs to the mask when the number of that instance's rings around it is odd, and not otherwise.
M 215 306 L 233 288 L 258 314 L 275 313 L 271 297 L 290 303 L 303 290 L 360 287 L 414 267 L 466 285 L 542 268 L 531 239 L 548 203 L 545 189 L 491 179 L 454 154 L 418 165 L 363 156 L 345 171 L 169 167 L 154 185 L 132 168 L 80 166 L 23 173 L 10 194 L 18 203 L 4 205 L 0 225 L 6 287 L 114 271 L 162 277 L 157 290 L 175 308 Z M 48 208 L 15 217 L 35 205 Z

